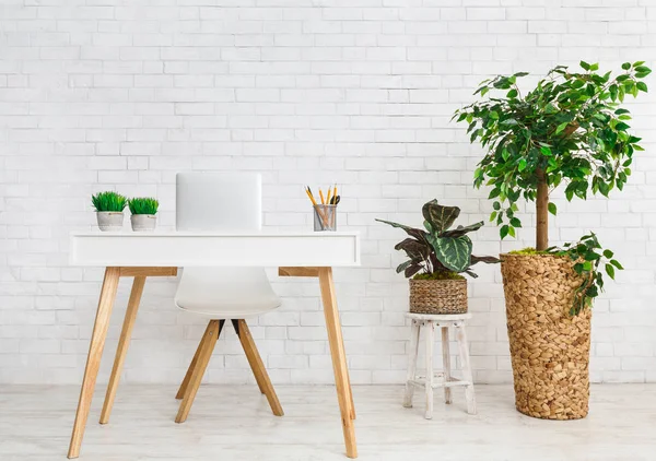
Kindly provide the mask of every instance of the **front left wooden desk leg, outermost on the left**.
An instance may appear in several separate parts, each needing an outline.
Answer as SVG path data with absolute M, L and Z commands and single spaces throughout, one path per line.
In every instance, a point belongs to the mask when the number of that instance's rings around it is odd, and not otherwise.
M 112 316 L 112 308 L 116 298 L 119 276 L 119 268 L 105 269 L 105 280 L 101 289 L 98 309 L 91 335 L 91 344 L 89 345 L 89 355 L 86 356 L 86 368 L 84 369 L 78 412 L 75 413 L 75 423 L 73 424 L 73 434 L 71 435 L 71 444 L 69 446 L 69 458 L 78 458 L 80 456 L 80 446 L 82 445 L 91 399 L 93 398 L 95 381 L 101 366 L 101 357 L 103 356 L 105 338 L 107 338 L 107 327 L 109 326 L 109 317 Z

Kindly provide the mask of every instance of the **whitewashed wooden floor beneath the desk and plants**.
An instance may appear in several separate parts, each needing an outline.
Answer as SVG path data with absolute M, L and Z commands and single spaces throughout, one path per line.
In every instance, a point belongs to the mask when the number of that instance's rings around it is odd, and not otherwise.
M 273 416 L 255 386 L 202 386 L 185 424 L 173 422 L 176 389 L 124 386 L 108 425 L 97 424 L 96 389 L 80 460 L 345 461 L 332 387 L 278 387 Z M 360 460 L 656 460 L 656 385 L 593 387 L 586 419 L 540 421 L 514 410 L 512 386 L 478 386 L 479 414 L 462 390 L 432 421 L 421 392 L 401 407 L 401 387 L 354 387 Z M 0 460 L 66 460 L 79 389 L 0 386 Z

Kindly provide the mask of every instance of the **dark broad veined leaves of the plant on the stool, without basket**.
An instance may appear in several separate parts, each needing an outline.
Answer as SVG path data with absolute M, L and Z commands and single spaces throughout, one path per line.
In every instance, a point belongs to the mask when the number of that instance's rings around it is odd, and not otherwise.
M 418 273 L 442 274 L 466 273 L 472 277 L 478 275 L 472 272 L 471 267 L 478 262 L 494 263 L 499 259 L 490 256 L 471 255 L 472 243 L 468 233 L 478 230 L 483 222 L 468 226 L 452 228 L 460 214 L 457 206 L 443 206 L 437 200 L 431 200 L 422 208 L 424 228 L 414 228 L 390 221 L 376 220 L 401 228 L 409 235 L 408 238 L 398 243 L 394 248 L 405 251 L 408 261 L 399 264 L 397 273 L 403 272 L 407 277 Z

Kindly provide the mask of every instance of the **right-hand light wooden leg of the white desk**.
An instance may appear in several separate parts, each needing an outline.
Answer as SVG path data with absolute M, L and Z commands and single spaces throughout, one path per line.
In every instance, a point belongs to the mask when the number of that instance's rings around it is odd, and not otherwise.
M 339 311 L 337 310 L 337 297 L 335 295 L 331 268 L 319 268 L 319 286 L 321 288 L 321 298 L 324 300 L 326 329 L 328 330 L 328 343 L 330 344 L 330 355 L 332 357 L 332 370 L 335 373 L 337 400 L 339 401 L 339 409 L 342 418 L 342 430 L 344 434 L 347 457 L 358 458 L 355 427 L 353 425 L 354 410 L 351 400 L 352 395 L 351 386 L 349 382 L 349 369 L 347 367 L 347 356 L 344 353 L 341 324 L 339 321 Z

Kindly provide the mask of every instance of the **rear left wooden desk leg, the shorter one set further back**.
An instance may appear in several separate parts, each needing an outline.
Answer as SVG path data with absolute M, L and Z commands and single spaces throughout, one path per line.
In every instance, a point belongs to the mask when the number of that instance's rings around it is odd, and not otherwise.
M 112 406 L 114 405 L 114 399 L 116 398 L 116 390 L 118 389 L 122 365 L 126 360 L 126 355 L 128 354 L 132 328 L 134 327 L 134 319 L 137 318 L 137 311 L 139 310 L 139 302 L 141 300 L 144 284 L 144 276 L 136 276 L 134 282 L 132 282 L 132 292 L 130 293 L 126 318 L 118 340 L 118 347 L 116 348 L 114 368 L 112 368 L 112 376 L 109 377 L 109 385 L 107 385 L 107 393 L 105 394 L 105 404 L 103 405 L 103 412 L 101 413 L 101 424 L 107 424 L 109 422 Z

